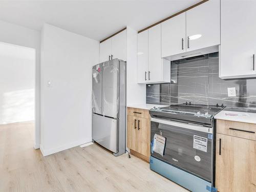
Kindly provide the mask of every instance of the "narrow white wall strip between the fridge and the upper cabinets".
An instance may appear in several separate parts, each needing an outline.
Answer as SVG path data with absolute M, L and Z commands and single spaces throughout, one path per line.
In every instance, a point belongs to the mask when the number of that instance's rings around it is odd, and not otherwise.
M 146 86 L 137 83 L 137 31 L 127 27 L 126 103 L 146 103 Z

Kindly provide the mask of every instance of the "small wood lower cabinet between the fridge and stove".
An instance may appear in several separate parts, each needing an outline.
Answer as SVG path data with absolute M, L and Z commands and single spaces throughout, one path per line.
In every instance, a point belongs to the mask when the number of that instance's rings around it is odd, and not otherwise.
M 150 158 L 150 115 L 148 110 L 128 108 L 127 114 L 127 147 L 130 148 L 133 155 L 148 162 Z

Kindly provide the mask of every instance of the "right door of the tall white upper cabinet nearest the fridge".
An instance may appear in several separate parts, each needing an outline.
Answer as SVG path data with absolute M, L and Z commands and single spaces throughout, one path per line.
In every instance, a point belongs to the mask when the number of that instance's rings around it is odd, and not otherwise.
M 148 29 L 148 82 L 162 81 L 161 24 Z

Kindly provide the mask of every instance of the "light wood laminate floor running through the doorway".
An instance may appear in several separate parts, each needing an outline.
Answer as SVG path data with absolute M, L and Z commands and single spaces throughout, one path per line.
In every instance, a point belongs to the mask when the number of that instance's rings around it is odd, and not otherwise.
M 187 191 L 127 154 L 97 144 L 47 157 L 33 148 L 34 123 L 0 125 L 0 191 Z

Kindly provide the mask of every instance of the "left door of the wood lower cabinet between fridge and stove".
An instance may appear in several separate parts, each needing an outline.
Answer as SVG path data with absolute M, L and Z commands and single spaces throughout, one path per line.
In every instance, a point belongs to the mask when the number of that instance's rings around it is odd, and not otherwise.
M 138 150 L 137 123 L 137 117 L 127 115 L 127 147 L 134 151 Z

